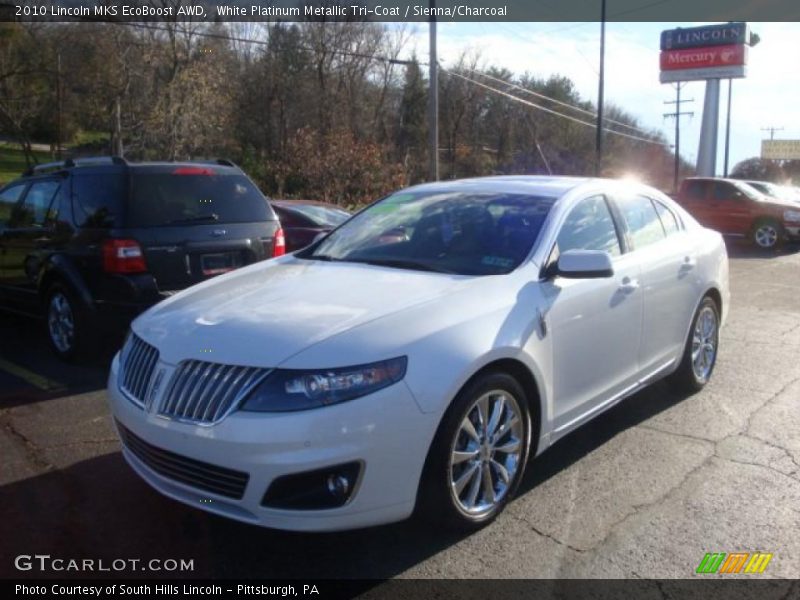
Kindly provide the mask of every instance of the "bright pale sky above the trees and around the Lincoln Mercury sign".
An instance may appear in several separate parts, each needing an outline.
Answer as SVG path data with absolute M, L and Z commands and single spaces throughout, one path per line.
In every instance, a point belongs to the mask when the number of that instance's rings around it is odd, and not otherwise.
M 673 144 L 675 121 L 663 115 L 675 110 L 674 104 L 664 104 L 675 100 L 675 85 L 658 81 L 659 36 L 665 29 L 704 24 L 607 23 L 606 102 L 639 119 L 644 129 L 662 132 Z M 412 27 L 406 52 L 409 56 L 416 52 L 420 61 L 427 61 L 427 25 Z M 761 140 L 770 137 L 762 128 L 782 127 L 774 132 L 775 139 L 800 139 L 800 23 L 751 23 L 750 27 L 761 41 L 750 49 L 747 77 L 733 82 L 730 169 L 760 154 Z M 463 50 L 474 50 L 480 53 L 483 66 L 505 67 L 518 75 L 569 77 L 584 99 L 597 101 L 600 23 L 440 22 L 437 45 L 439 62 L 445 68 L 454 64 Z M 724 168 L 727 94 L 728 83 L 723 81 L 717 175 L 722 175 Z M 691 164 L 697 159 L 704 95 L 705 82 L 687 82 L 681 89 L 682 99 L 694 99 L 681 108 L 694 112 L 693 117 L 681 118 L 681 156 Z

